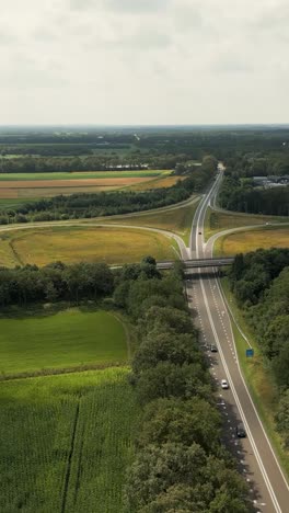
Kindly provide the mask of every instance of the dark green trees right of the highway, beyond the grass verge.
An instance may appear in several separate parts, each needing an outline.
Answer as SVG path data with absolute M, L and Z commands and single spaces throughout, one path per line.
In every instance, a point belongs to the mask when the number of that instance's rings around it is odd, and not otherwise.
M 289 250 L 238 254 L 229 280 L 274 376 L 279 395 L 276 426 L 289 447 Z

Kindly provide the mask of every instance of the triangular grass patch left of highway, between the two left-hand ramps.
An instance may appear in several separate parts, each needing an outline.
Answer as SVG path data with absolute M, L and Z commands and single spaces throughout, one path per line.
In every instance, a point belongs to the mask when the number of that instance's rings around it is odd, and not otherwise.
M 104 219 L 105 223 L 124 224 L 144 226 L 149 228 L 159 228 L 162 230 L 173 231 L 181 236 L 184 242 L 188 246 L 189 232 L 192 221 L 196 212 L 198 202 L 187 206 L 180 206 L 178 208 L 171 208 L 159 210 L 155 213 L 143 213 L 142 215 L 134 216 L 117 216 L 112 220 Z

